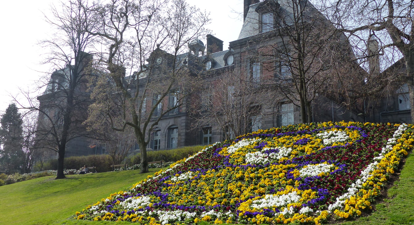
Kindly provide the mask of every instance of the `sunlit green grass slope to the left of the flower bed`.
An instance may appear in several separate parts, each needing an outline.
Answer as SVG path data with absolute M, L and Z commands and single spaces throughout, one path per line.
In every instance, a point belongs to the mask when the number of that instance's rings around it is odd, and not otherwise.
M 75 211 L 123 190 L 158 170 L 149 169 L 151 173 L 146 174 L 134 170 L 69 175 L 61 180 L 43 177 L 2 186 L 0 225 L 89 224 L 68 221 L 67 218 Z

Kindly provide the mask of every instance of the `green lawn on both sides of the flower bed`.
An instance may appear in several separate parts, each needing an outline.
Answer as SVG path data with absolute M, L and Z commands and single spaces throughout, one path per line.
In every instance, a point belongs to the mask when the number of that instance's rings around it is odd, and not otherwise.
M 3 206 L 0 225 L 11 224 L 115 224 L 115 222 L 91 222 L 67 220 L 113 192 L 123 190 L 151 173 L 135 171 L 69 175 L 67 179 L 53 180 L 43 177 L 0 187 Z M 340 225 L 400 225 L 414 224 L 414 154 L 407 158 L 404 168 L 388 197 L 377 204 L 376 211 L 357 220 L 335 222 Z M 116 224 L 130 224 L 121 222 Z

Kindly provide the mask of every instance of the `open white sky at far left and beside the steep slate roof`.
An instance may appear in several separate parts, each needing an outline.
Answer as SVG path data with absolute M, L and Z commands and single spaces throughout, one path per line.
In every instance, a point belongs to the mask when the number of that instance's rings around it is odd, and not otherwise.
M 207 28 L 213 35 L 224 41 L 224 49 L 230 41 L 236 40 L 243 24 L 243 0 L 187 0 L 202 10 L 210 12 L 212 22 Z M 45 21 L 51 3 L 56 0 L 3 1 L 0 9 L 2 52 L 0 62 L 0 112 L 13 102 L 11 96 L 24 102 L 20 89 L 33 90 L 35 82 L 46 72 L 48 65 L 41 65 L 46 50 L 39 45 L 40 40 L 53 34 L 51 26 Z M 205 40 L 202 40 L 206 43 Z

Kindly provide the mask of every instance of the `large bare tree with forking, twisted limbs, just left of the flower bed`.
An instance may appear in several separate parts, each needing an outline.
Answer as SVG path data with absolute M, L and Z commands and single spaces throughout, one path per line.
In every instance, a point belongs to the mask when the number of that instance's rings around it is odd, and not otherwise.
M 141 151 L 141 173 L 148 172 L 147 145 L 151 132 L 161 118 L 176 111 L 197 80 L 191 73 L 193 57 L 184 47 L 205 35 L 205 14 L 184 0 L 112 0 L 95 8 L 102 27 L 90 34 L 103 38 L 109 45 L 104 64 L 122 98 L 116 100 L 123 124 L 113 130 L 132 127 Z M 137 69 L 126 76 L 125 68 Z M 98 90 L 97 90 L 98 91 Z M 106 99 L 94 95 L 88 121 L 101 116 L 111 118 L 114 110 Z M 111 100 L 111 98 L 109 98 Z M 170 104 L 166 104 L 166 102 Z M 154 104 L 148 104 L 153 102 Z

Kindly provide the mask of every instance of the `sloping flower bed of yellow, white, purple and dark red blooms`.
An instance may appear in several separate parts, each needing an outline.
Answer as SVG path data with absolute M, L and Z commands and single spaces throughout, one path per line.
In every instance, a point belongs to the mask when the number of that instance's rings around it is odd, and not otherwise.
M 165 225 L 357 217 L 412 148 L 413 130 L 354 122 L 260 130 L 215 143 L 75 218 Z

